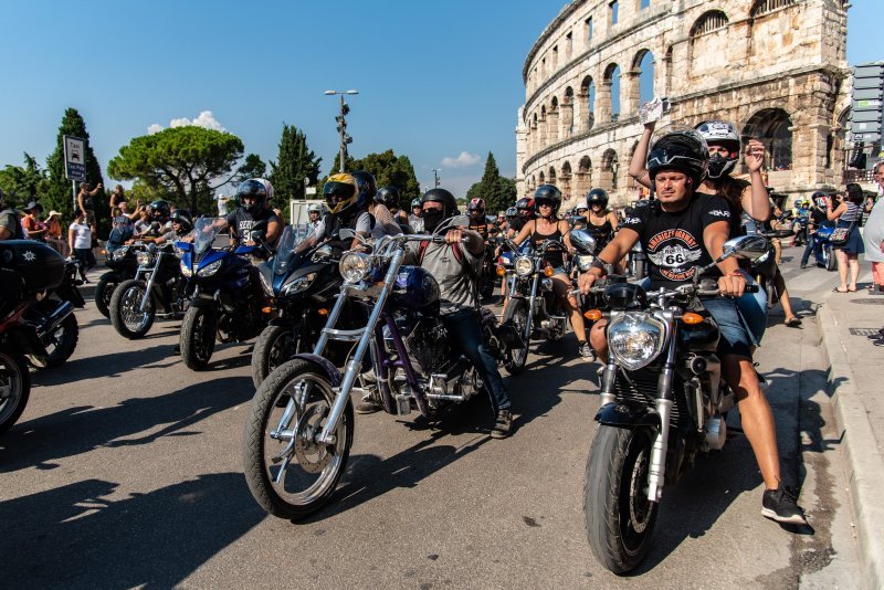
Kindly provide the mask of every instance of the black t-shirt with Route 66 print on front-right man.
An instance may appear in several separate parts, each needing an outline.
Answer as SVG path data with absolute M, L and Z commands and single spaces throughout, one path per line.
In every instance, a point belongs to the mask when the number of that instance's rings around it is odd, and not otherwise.
M 674 288 L 694 278 L 695 266 L 713 259 L 703 243 L 703 230 L 717 221 L 730 223 L 727 201 L 717 196 L 694 194 L 682 211 L 667 213 L 659 204 L 634 209 L 622 226 L 639 234 L 650 261 L 652 288 Z M 720 276 L 717 266 L 706 276 Z

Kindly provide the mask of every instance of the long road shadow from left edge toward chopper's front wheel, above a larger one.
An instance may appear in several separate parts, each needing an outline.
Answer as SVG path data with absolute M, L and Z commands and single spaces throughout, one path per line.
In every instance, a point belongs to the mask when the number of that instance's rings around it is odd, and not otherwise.
M 187 429 L 253 394 L 251 378 L 224 377 L 158 397 L 124 399 L 109 408 L 67 408 L 20 422 L 0 440 L 0 473 L 32 466 L 51 470 L 60 459 L 99 446 L 141 445 L 161 436 L 192 434 Z

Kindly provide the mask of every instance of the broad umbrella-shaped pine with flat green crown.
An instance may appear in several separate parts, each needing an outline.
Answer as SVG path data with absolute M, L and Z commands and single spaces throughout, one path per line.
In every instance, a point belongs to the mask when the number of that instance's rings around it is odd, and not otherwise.
M 242 140 L 233 134 L 192 125 L 171 127 L 134 138 L 119 148 L 107 166 L 112 178 L 141 179 L 147 186 L 175 194 L 191 212 L 214 210 L 212 192 L 230 182 L 242 157 Z

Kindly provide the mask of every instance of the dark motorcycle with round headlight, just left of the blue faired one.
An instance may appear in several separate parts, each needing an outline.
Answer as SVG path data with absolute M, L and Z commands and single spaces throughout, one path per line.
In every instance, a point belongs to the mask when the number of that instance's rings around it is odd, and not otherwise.
M 148 244 L 135 257 L 135 278 L 120 283 L 110 297 L 110 323 L 130 340 L 143 338 L 157 317 L 182 318 L 188 304 L 188 281 L 173 244 Z

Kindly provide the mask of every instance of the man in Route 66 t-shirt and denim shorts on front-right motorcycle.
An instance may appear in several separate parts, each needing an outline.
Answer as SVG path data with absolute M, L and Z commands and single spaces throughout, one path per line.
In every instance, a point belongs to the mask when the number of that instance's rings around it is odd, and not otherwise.
M 722 255 L 730 233 L 732 212 L 723 197 L 696 191 L 707 166 L 706 143 L 693 130 L 666 134 L 654 144 L 648 158 L 648 178 L 656 202 L 636 209 L 624 220 L 593 267 L 580 276 L 583 293 L 604 276 L 606 261 L 619 260 L 636 241 L 648 253 L 652 288 L 673 288 L 692 281 L 697 266 Z M 749 336 L 733 298 L 743 295 L 746 280 L 733 257 L 717 264 L 715 273 L 724 297 L 705 299 L 703 304 L 718 325 L 723 376 L 739 402 L 743 429 L 765 481 L 761 514 L 780 523 L 806 523 L 797 498 L 780 478 L 774 414 L 758 382 Z M 606 325 L 607 322 L 598 322 L 590 336 L 602 359 L 608 358 Z

